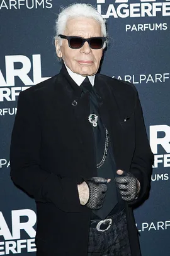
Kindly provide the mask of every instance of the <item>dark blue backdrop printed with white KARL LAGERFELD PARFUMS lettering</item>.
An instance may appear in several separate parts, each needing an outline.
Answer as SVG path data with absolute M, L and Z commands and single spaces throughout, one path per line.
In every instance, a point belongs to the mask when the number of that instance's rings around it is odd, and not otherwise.
M 53 37 L 68 0 L 0 0 L 0 255 L 35 256 L 35 202 L 9 178 L 11 130 L 21 90 L 60 70 Z M 90 0 L 106 18 L 110 46 L 101 73 L 139 91 L 155 163 L 150 198 L 135 210 L 142 256 L 170 255 L 170 1 Z M 48 221 L 48 220 L 47 220 Z

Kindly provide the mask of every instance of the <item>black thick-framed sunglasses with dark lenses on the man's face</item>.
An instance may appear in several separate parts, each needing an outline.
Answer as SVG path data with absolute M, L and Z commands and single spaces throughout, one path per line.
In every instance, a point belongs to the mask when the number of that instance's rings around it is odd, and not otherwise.
M 81 48 L 85 42 L 88 42 L 89 47 L 91 49 L 101 49 L 103 47 L 103 44 L 106 40 L 106 37 L 90 37 L 87 39 L 84 39 L 82 37 L 76 37 L 76 36 L 66 36 L 66 35 L 59 35 L 62 39 L 67 39 L 69 43 L 69 47 L 72 49 L 79 49 Z

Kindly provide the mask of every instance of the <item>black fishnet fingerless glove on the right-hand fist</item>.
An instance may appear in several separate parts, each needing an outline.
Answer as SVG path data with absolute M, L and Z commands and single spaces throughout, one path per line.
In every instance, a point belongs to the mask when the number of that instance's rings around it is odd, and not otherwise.
M 115 182 L 123 200 L 132 202 L 137 199 L 140 191 L 140 183 L 132 173 L 126 173 L 124 171 L 122 175 L 115 178 Z

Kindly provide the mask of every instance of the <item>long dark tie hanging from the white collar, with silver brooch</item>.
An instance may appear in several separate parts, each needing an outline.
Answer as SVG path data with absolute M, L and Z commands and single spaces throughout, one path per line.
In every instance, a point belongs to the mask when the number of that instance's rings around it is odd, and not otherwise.
M 101 120 L 99 115 L 99 95 L 96 92 L 96 88 L 91 85 L 89 82 L 88 76 L 84 79 L 84 82 L 81 84 L 83 94 L 89 91 L 89 102 L 90 102 L 90 113 L 96 114 L 98 116 L 98 125 L 96 127 L 93 126 L 94 133 L 94 149 L 96 150 L 96 164 L 99 164 L 103 157 L 103 153 L 105 150 L 105 125 Z M 114 185 L 114 172 L 115 172 L 115 163 L 114 159 L 111 155 L 111 145 L 108 149 L 108 155 L 106 157 L 106 161 L 103 166 L 97 169 L 98 176 L 103 178 L 111 178 L 111 182 L 108 184 L 108 191 L 106 193 L 105 202 L 103 207 L 99 210 L 94 210 L 93 213 L 100 217 L 101 219 L 105 219 L 106 216 L 111 212 L 111 210 L 118 203 L 118 198 L 116 195 L 116 186 Z

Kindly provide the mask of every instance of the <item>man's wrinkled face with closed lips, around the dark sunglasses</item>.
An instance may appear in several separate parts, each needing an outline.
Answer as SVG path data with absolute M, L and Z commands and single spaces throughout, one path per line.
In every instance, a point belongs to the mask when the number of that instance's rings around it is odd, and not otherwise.
M 101 25 L 93 18 L 73 18 L 67 21 L 64 35 L 76 35 L 83 38 L 103 37 Z M 77 74 L 82 76 L 94 75 L 98 71 L 103 49 L 91 49 L 85 42 L 80 49 L 71 49 L 67 39 L 62 39 L 62 46 L 55 40 L 57 56 L 62 58 L 65 64 Z

